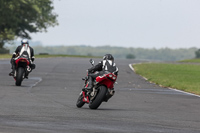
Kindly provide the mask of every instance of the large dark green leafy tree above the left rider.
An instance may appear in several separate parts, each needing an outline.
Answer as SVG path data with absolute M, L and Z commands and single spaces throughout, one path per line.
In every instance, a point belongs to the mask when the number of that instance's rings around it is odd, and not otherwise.
M 52 0 L 0 0 L 0 48 L 16 37 L 46 31 L 58 24 Z

